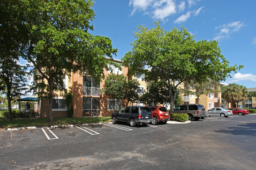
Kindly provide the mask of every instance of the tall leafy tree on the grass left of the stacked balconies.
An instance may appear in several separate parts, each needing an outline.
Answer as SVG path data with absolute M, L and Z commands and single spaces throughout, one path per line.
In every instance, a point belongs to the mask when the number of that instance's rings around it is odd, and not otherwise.
M 53 122 L 54 91 L 65 91 L 63 79 L 83 70 L 100 82 L 117 49 L 108 37 L 93 36 L 90 22 L 95 18 L 91 0 L 25 1 L 24 26 L 29 41 L 24 58 L 33 64 L 33 92 L 49 100 L 48 121 Z

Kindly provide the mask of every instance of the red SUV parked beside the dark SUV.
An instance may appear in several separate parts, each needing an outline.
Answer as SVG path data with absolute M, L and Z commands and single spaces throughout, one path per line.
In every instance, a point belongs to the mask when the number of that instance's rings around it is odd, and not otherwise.
M 153 113 L 153 121 L 151 124 L 158 124 L 158 122 L 166 123 L 170 120 L 170 114 L 165 107 L 149 107 Z

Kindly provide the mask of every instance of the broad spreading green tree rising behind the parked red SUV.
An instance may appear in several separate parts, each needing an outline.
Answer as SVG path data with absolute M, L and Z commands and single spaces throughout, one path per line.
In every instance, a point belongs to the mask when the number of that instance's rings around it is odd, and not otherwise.
M 134 32 L 132 51 L 122 59 L 132 74 L 145 73 L 146 80 L 161 80 L 165 84 L 171 111 L 181 83 L 206 82 L 209 78 L 225 80 L 230 72 L 243 67 L 229 66 L 217 41 L 195 42 L 184 27 L 164 31 L 159 23 L 155 22 L 154 29 L 139 26 Z

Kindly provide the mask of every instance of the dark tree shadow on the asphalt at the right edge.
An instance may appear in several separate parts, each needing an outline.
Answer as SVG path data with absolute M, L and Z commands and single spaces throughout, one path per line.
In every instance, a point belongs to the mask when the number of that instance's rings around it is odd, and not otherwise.
M 256 136 L 256 123 L 240 124 L 226 129 L 215 130 L 214 132 L 229 133 L 232 135 Z

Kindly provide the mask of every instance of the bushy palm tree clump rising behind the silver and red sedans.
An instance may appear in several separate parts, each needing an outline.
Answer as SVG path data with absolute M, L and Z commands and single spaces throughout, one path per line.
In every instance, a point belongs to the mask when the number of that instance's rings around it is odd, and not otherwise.
M 238 107 L 238 102 L 245 100 L 249 95 L 249 91 L 243 85 L 232 83 L 223 86 L 221 94 L 227 103 L 231 103 L 231 107 Z

